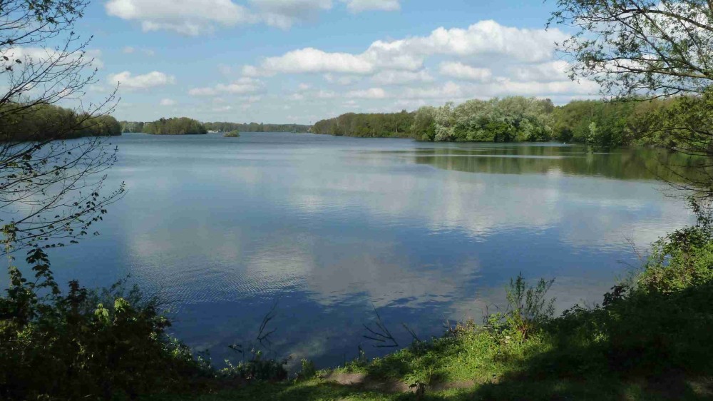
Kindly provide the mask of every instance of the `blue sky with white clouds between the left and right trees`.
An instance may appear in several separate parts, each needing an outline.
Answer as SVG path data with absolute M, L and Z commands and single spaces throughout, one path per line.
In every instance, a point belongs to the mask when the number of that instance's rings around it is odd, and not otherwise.
M 120 120 L 311 124 L 472 98 L 597 93 L 570 81 L 540 0 L 94 0 L 76 32 Z

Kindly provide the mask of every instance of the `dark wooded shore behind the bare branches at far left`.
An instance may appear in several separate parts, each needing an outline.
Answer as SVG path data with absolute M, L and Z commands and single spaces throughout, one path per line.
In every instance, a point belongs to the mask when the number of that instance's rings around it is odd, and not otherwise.
M 24 106 L 11 103 L 5 105 L 4 109 L 18 111 L 0 113 L 1 142 L 121 135 L 119 122 L 108 114 L 91 116 L 49 104 Z

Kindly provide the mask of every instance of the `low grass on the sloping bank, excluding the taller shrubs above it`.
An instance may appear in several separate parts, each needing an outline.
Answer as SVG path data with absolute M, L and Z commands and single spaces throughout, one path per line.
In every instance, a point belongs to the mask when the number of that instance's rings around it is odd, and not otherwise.
M 466 323 L 311 380 L 148 400 L 713 400 L 710 305 L 710 284 L 674 295 L 632 293 L 606 307 L 575 308 L 526 338 L 504 322 Z M 347 374 L 372 385 L 327 380 Z M 424 383 L 426 392 L 374 390 L 391 382 Z

